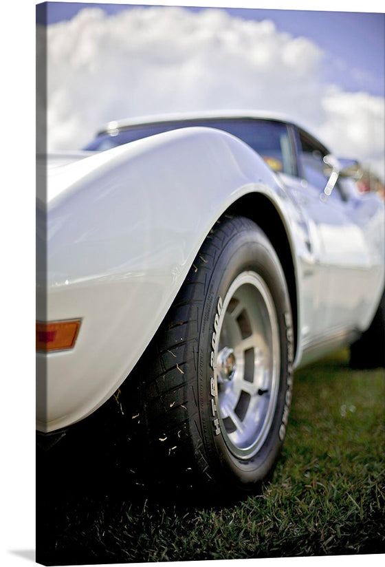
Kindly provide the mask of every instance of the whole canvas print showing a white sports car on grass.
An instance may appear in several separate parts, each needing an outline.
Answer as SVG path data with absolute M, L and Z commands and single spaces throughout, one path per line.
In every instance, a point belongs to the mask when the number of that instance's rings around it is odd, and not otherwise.
M 36 6 L 36 559 L 385 553 L 384 13 Z

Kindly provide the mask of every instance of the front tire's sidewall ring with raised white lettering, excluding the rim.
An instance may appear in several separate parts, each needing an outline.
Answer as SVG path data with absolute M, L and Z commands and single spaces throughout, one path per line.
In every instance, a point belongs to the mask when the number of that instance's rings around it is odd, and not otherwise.
M 236 458 L 228 449 L 222 434 L 218 434 L 218 420 L 212 411 L 212 333 L 215 317 L 232 281 L 243 272 L 256 272 L 270 290 L 276 310 L 281 361 L 278 394 L 270 431 L 259 451 L 248 460 Z M 219 299 L 220 298 L 220 299 Z M 292 362 L 294 334 L 289 295 L 283 270 L 274 248 L 256 226 L 234 234 L 223 246 L 212 270 L 208 293 L 203 306 L 199 341 L 199 407 L 202 437 L 206 445 L 212 478 L 248 488 L 272 472 L 285 438 L 287 416 L 292 399 Z

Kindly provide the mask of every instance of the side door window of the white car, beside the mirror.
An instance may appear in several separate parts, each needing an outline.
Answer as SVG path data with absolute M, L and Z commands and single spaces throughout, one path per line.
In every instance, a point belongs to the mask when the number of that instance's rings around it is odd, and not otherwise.
M 323 158 L 329 153 L 327 149 L 317 140 L 312 138 L 304 131 L 299 131 L 300 140 L 300 161 L 303 174 L 309 184 L 313 185 L 320 192 L 324 191 L 329 178 L 324 174 L 325 163 Z M 341 199 L 338 183 L 331 192 L 331 197 Z

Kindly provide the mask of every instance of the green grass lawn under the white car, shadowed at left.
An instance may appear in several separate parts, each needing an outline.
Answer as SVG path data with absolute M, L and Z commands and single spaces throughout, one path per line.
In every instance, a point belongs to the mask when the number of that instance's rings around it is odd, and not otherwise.
M 350 370 L 339 352 L 296 372 L 282 456 L 259 496 L 194 508 L 130 500 L 124 486 L 113 497 L 83 494 L 47 519 L 46 560 L 385 553 L 384 446 L 384 372 Z

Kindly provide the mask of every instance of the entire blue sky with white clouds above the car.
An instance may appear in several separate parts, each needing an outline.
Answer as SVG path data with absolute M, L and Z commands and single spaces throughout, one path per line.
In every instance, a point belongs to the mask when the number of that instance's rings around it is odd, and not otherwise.
M 384 14 L 94 2 L 37 10 L 50 28 L 50 151 L 84 147 L 119 118 L 257 109 L 383 175 Z

